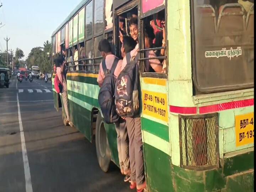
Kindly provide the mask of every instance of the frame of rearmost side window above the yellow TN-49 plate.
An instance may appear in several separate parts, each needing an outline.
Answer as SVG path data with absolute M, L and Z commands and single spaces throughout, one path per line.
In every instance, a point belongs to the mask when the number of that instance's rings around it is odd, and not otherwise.
M 138 12 L 141 13 L 140 15 L 138 15 L 138 39 L 139 39 L 139 49 L 144 49 L 145 43 L 144 43 L 144 34 L 143 34 L 143 20 L 144 18 L 154 15 L 162 10 L 165 11 L 165 13 L 167 13 L 167 0 L 165 0 L 165 5 L 161 5 L 156 7 L 155 9 L 151 9 L 150 11 L 145 12 L 144 14 L 142 14 L 142 4 L 140 3 L 139 6 L 139 10 Z M 149 78 L 159 78 L 159 79 L 167 79 L 168 78 L 168 68 L 169 68 L 169 55 L 168 55 L 168 38 L 167 38 L 167 34 L 168 34 L 168 27 L 167 27 L 167 14 L 165 14 L 165 63 L 166 63 L 166 72 L 165 73 L 150 73 L 150 72 L 143 72 L 141 70 L 139 70 L 139 73 L 142 77 L 149 77 Z M 141 38 L 142 37 L 142 38 Z M 143 42 L 143 43 L 142 43 Z M 140 59 L 144 58 L 145 53 L 141 52 L 140 53 Z M 139 59 L 139 67 L 142 67 L 142 60 Z

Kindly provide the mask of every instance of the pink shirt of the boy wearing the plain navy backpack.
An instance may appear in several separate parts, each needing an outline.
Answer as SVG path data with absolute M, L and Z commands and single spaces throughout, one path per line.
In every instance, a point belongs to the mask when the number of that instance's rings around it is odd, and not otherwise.
M 114 63 L 114 59 L 117 58 L 115 55 L 113 54 L 110 54 L 110 55 L 107 55 L 106 58 L 105 58 L 105 63 L 106 63 L 106 67 L 107 69 L 111 69 L 113 63 Z M 117 58 L 118 59 L 118 58 Z M 116 66 L 116 69 L 114 71 L 114 76 L 117 78 L 118 75 L 121 73 L 121 66 L 122 66 L 122 60 L 120 59 L 119 62 L 117 63 L 117 66 Z M 100 63 L 100 70 L 99 70 L 99 73 L 98 73 L 98 78 L 97 78 L 97 82 L 98 84 L 102 84 L 103 83 L 103 80 L 105 78 L 105 75 L 104 75 L 104 71 L 103 71 L 103 68 L 102 68 L 102 62 Z

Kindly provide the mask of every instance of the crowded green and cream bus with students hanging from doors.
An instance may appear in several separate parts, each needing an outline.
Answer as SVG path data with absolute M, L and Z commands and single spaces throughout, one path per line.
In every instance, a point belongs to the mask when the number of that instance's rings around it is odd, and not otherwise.
M 106 38 L 121 58 L 119 30 L 129 34 L 138 17 L 146 190 L 254 191 L 254 3 L 230 2 L 82 0 L 52 33 L 52 59 L 63 50 L 69 67 L 70 119 L 96 142 L 103 171 L 119 163 L 116 130 L 102 121 L 97 100 L 97 46 Z M 146 25 L 160 39 L 154 48 L 145 48 Z M 160 49 L 165 72 L 145 71 L 145 52 Z

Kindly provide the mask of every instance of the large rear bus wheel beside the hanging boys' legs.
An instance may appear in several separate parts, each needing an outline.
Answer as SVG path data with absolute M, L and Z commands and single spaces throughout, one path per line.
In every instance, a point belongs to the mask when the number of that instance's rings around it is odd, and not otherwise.
M 111 155 L 110 147 L 108 145 L 107 133 L 100 112 L 98 112 L 96 120 L 95 143 L 98 164 L 100 165 L 102 171 L 107 172 L 110 166 Z

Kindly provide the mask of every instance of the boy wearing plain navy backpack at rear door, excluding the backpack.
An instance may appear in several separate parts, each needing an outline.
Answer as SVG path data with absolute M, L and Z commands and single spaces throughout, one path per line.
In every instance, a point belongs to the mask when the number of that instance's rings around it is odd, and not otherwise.
M 98 50 L 101 52 L 103 59 L 105 59 L 107 69 L 111 69 L 114 59 L 117 58 L 111 52 L 111 46 L 107 39 L 102 39 L 98 44 Z M 117 63 L 116 69 L 114 71 L 114 76 L 117 76 L 121 72 L 122 60 L 119 60 Z M 101 87 L 104 80 L 104 71 L 102 68 L 102 62 L 100 63 L 100 70 L 98 73 L 97 82 Z M 116 132 L 117 132 L 117 149 L 118 149 L 118 158 L 121 173 L 126 175 L 124 181 L 129 181 L 130 179 L 130 165 L 129 165 L 129 139 L 126 128 L 126 121 L 122 118 L 119 118 L 119 121 L 115 123 Z

